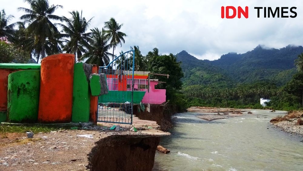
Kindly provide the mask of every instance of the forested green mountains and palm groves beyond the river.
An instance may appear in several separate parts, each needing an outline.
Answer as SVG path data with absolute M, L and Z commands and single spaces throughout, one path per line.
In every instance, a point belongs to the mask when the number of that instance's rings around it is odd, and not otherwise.
M 300 51 L 302 46 L 286 46 L 280 50 L 258 46 L 245 54 L 228 53 L 215 61 L 198 60 L 182 51 L 177 59 L 182 61 L 185 72 L 183 101 L 187 107 L 262 109 L 260 98 L 269 98 L 271 102 L 264 108 L 298 110 L 303 107 L 303 54 L 298 53 Z M 271 61 L 266 63 L 268 58 Z

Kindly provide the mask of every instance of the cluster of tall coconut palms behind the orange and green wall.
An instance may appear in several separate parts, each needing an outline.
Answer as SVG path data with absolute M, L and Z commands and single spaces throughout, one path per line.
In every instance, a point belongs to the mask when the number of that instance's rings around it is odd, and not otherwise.
M 69 12 L 71 17 L 68 18 L 55 15 L 58 8 L 63 8 L 62 5 L 51 5 L 48 0 L 25 2 L 30 8 L 18 8 L 18 11 L 25 13 L 20 17 L 20 22 L 9 23 L 14 16 L 7 15 L 4 9 L 0 12 L 0 42 L 5 40 L 5 43 L 20 48 L 30 57 L 35 57 L 37 63 L 48 55 L 73 53 L 75 62 L 78 60 L 106 66 L 110 62 L 109 57 L 114 59 L 115 48 L 125 43 L 126 34 L 121 32 L 123 23 L 119 24 L 114 18 L 105 22 L 104 29 L 94 28 L 89 32 L 93 18 L 86 20 L 82 11 Z M 113 52 L 109 53 L 111 48 Z M 7 48 L 0 47 L 0 54 L 6 54 L 7 51 Z M 0 56 L 2 63 L 10 63 L 12 60 L 9 55 Z M 18 60 L 13 62 L 22 63 Z

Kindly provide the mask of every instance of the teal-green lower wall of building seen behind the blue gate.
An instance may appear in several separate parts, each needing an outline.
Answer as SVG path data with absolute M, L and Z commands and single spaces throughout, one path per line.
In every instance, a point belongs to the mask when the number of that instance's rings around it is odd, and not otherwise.
M 145 91 L 134 91 L 134 104 L 142 101 Z M 99 96 L 99 103 L 125 103 L 132 102 L 132 91 L 108 91 L 108 94 Z

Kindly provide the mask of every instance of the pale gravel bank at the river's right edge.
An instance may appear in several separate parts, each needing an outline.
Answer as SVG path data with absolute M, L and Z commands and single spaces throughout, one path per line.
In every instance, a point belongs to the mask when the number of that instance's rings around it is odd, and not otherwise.
M 289 119 L 289 121 L 280 121 L 278 123 L 272 124 L 279 128 L 282 128 L 283 131 L 303 135 L 303 125 L 296 125 L 297 120 L 297 118 L 293 118 Z

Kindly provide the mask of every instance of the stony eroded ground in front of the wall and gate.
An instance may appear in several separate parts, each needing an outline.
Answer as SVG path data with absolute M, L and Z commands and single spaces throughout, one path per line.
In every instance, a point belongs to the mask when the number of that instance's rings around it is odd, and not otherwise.
M 122 130 L 114 131 L 109 130 L 113 124 L 99 124 L 102 126 L 90 130 L 59 130 L 35 134 L 33 139 L 26 138 L 25 134 L 10 134 L 6 140 L 2 139 L 6 143 L 0 146 L 0 170 L 87 170 L 88 154 L 100 139 L 110 135 L 170 135 L 159 131 L 155 122 L 135 117 L 133 125 L 138 128 L 138 132 L 129 131 L 131 125 L 120 124 Z

